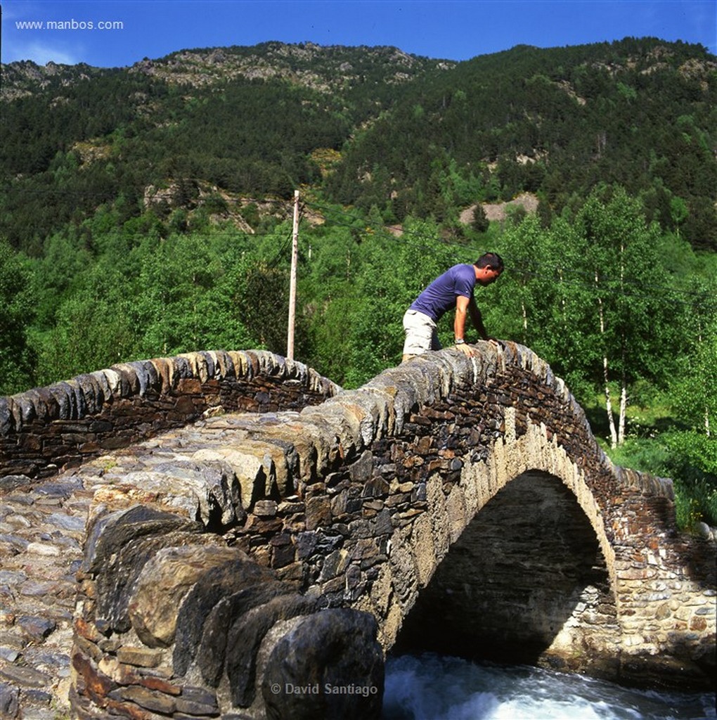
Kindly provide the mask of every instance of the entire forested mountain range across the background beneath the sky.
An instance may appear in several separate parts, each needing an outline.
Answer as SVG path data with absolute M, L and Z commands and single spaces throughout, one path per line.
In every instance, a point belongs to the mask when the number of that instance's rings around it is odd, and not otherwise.
M 521 191 L 550 217 L 615 182 L 663 228 L 717 248 L 717 63 L 698 45 L 518 46 L 449 63 L 268 42 L 2 76 L 0 235 L 35 255 L 100 204 L 127 220 L 161 189 L 190 207 L 202 183 L 284 198 L 309 184 L 390 222 L 455 222 Z

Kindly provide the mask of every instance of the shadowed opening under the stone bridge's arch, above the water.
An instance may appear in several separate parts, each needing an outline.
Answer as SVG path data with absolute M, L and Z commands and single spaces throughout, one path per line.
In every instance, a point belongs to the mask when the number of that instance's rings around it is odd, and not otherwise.
M 617 657 L 616 616 L 608 567 L 577 498 L 559 478 L 531 470 L 451 545 L 392 652 L 609 675 L 615 668 L 595 667 L 595 658 Z

